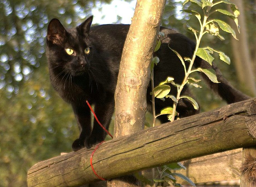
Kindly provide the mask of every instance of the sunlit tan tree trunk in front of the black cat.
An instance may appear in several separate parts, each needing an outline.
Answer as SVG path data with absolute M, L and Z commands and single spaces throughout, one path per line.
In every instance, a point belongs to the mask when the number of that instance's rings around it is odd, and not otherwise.
M 116 86 L 115 137 L 144 128 L 149 67 L 165 3 L 165 0 L 137 1 Z

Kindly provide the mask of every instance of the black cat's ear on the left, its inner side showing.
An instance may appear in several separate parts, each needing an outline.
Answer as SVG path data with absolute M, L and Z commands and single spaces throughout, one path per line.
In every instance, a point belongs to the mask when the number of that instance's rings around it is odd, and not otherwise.
M 52 19 L 48 25 L 47 39 L 56 45 L 62 45 L 66 37 L 66 29 L 58 19 Z

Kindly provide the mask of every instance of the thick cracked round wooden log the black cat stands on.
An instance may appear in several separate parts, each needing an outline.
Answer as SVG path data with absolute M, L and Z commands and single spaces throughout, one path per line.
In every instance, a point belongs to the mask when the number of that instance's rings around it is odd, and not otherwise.
M 256 145 L 256 99 L 227 105 L 103 143 L 93 156 L 97 174 L 111 179 L 146 168 Z M 81 186 L 97 181 L 93 149 L 39 162 L 28 187 Z

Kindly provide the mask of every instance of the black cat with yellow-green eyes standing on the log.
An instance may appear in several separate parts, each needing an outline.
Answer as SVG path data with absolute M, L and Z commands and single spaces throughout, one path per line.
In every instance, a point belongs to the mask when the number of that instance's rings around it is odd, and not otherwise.
M 94 120 L 91 127 L 91 112 L 86 104 L 95 105 L 95 113 L 99 121 L 108 129 L 114 111 L 114 93 L 124 42 L 130 25 L 108 24 L 91 27 L 92 16 L 80 26 L 65 29 L 60 21 L 52 19 L 47 33 L 47 58 L 50 71 L 50 80 L 58 94 L 73 107 L 80 136 L 72 144 L 74 151 L 104 140 L 106 133 Z M 167 76 L 172 76 L 176 83 L 181 83 L 184 68 L 177 56 L 168 48 L 178 51 L 183 57 L 191 57 L 195 44 L 188 38 L 172 29 L 160 28 L 165 34 L 160 49 L 154 54 L 160 58 L 160 63 L 154 68 L 154 84 L 158 85 Z M 218 81 L 212 83 L 205 77 L 213 91 L 217 92 L 228 103 L 242 101 L 249 97 L 232 88 L 226 79 L 221 76 L 215 66 L 198 58 L 195 66 L 204 69 L 213 68 Z M 149 84 L 150 85 L 150 84 Z M 147 90 L 148 109 L 151 110 L 150 86 Z M 171 89 L 176 95 L 176 89 Z M 184 95 L 189 90 L 184 88 Z M 156 100 L 156 113 L 160 109 L 172 105 L 173 101 L 167 99 L 163 102 Z M 177 111 L 180 117 L 196 114 L 192 104 L 186 99 L 179 101 Z M 164 123 L 167 118 L 160 120 Z

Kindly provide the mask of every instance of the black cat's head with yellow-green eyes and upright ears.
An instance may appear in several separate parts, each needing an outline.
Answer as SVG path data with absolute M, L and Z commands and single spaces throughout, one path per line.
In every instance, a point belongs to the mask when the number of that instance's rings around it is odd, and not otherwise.
M 88 40 L 92 16 L 81 25 L 65 29 L 52 19 L 47 30 L 47 57 L 50 71 L 80 75 L 90 67 L 91 46 Z

